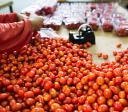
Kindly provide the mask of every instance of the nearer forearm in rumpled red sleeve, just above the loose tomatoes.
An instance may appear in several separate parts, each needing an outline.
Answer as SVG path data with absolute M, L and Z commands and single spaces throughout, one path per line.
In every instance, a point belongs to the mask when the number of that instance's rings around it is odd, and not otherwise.
M 28 19 L 0 24 L 0 53 L 21 49 L 32 39 L 32 25 Z

